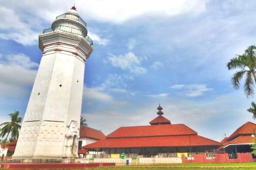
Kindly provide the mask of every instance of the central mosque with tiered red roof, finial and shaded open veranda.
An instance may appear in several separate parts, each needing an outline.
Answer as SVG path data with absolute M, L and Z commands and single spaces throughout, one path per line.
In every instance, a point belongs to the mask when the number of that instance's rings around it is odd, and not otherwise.
M 82 146 L 89 151 L 105 153 L 136 153 L 141 156 L 154 156 L 158 153 L 195 153 L 210 152 L 222 146 L 222 143 L 199 136 L 184 124 L 171 124 L 157 107 L 157 117 L 148 126 L 120 127 L 105 139 Z

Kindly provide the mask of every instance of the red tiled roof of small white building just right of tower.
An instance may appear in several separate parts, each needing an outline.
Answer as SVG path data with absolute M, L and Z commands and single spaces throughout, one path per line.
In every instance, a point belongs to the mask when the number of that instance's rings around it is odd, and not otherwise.
M 88 137 L 99 140 L 105 139 L 105 135 L 100 130 L 92 129 L 88 126 L 80 127 L 80 137 Z

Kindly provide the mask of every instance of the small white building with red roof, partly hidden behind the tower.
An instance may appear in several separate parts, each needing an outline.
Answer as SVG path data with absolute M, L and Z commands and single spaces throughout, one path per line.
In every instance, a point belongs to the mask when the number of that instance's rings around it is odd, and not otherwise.
M 105 139 L 106 136 L 100 131 L 96 129 L 92 129 L 88 126 L 80 127 L 80 134 L 79 134 L 79 142 L 78 142 L 78 154 L 79 158 L 90 158 L 93 154 L 98 154 L 98 152 L 80 149 L 82 146 L 97 142 L 101 139 Z M 87 154 L 86 154 L 87 153 Z

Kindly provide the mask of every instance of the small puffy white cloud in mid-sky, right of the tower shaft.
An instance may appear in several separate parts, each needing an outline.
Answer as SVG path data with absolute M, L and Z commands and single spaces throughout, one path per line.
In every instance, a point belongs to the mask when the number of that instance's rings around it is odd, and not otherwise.
M 109 62 L 114 67 L 121 68 L 123 70 L 129 70 L 135 74 L 144 74 L 147 72 L 146 68 L 140 67 L 141 60 L 133 54 L 133 52 L 128 52 L 124 55 L 110 55 L 107 57 L 107 62 Z

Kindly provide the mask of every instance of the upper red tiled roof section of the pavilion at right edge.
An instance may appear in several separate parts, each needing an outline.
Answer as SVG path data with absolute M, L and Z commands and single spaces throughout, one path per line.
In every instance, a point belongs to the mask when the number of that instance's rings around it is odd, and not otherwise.
M 253 122 L 246 122 L 242 126 L 240 126 L 234 133 L 232 133 L 227 140 L 232 139 L 233 137 L 241 134 L 252 134 L 256 130 L 256 124 Z

